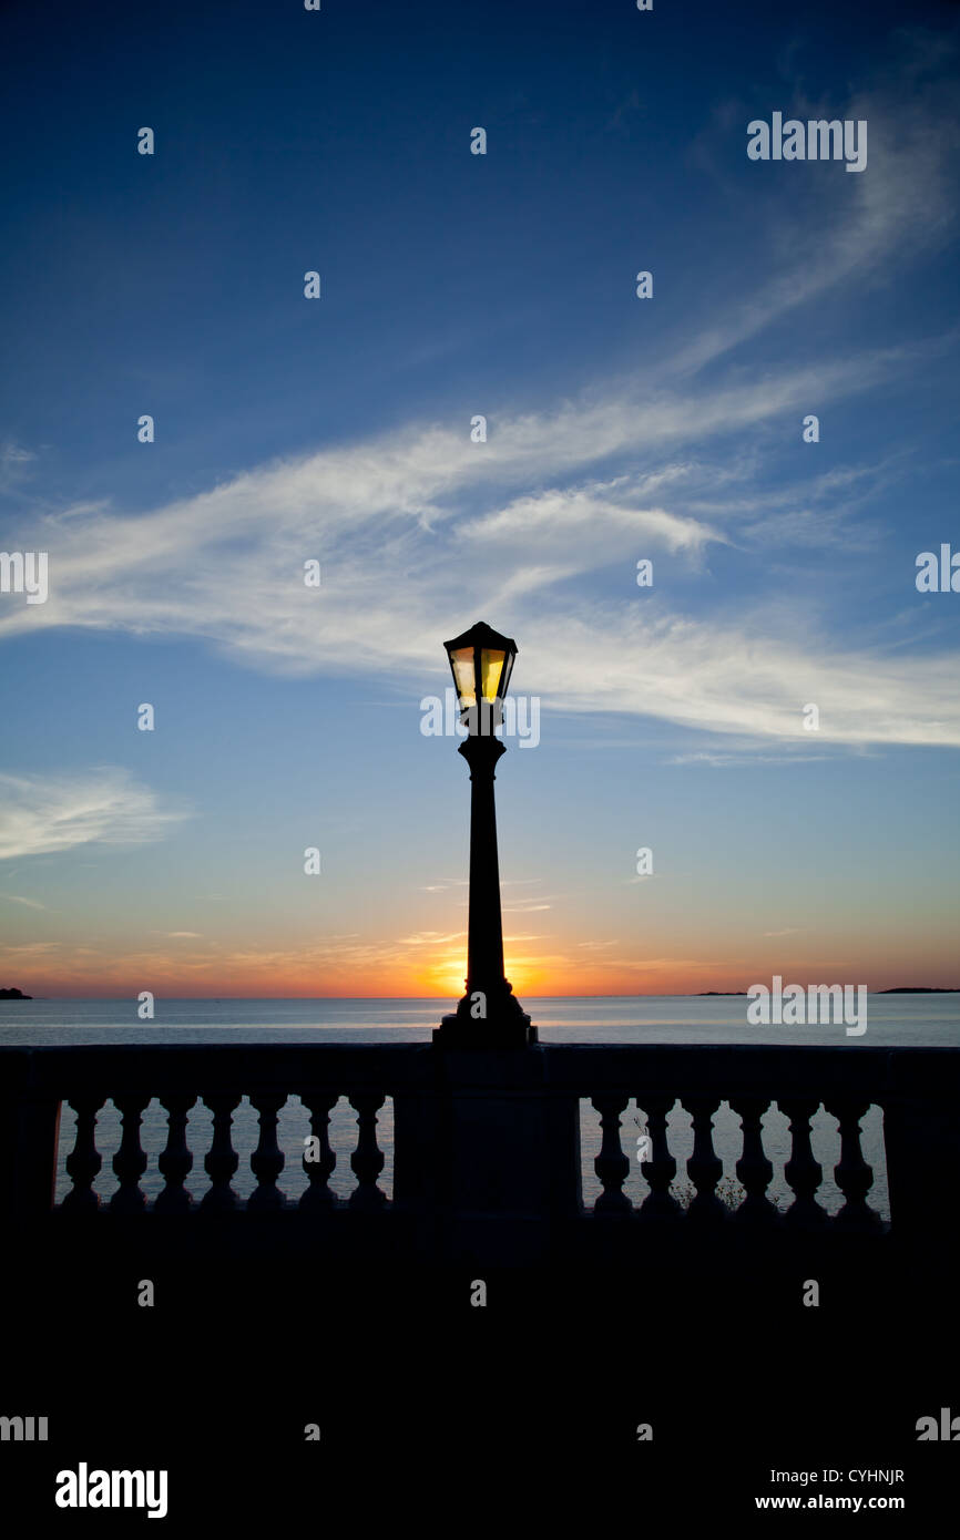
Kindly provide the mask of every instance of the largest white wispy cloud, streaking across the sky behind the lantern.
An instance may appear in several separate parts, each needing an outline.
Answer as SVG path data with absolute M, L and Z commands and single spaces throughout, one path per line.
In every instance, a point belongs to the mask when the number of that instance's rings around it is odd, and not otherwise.
M 820 399 L 831 382 L 864 388 L 884 367 L 877 359 L 824 367 Z M 638 439 L 649 447 L 681 431 L 740 431 L 801 397 L 809 399 L 806 387 L 786 374 L 774 387 L 720 390 L 695 413 L 689 402 L 661 400 L 639 428 L 626 402 L 564 407 L 505 424 L 485 457 L 462 436 L 428 428 L 274 465 L 143 517 L 103 508 L 52 517 L 43 531 L 49 601 L 8 611 L 0 633 L 34 624 L 186 633 L 285 673 L 381 678 L 388 662 L 399 684 L 411 671 L 442 670 L 439 630 L 456 628 L 464 607 L 509 627 L 522 591 L 524 685 L 544 705 L 783 739 L 800 736 L 801 707 L 815 701 L 821 741 L 960 744 L 952 654 L 891 661 L 844 650 L 831 636 L 804 642 L 795 616 L 783 616 L 780 634 L 763 608 L 692 619 L 655 593 L 609 601 L 582 581 L 572 601 L 569 579 L 598 561 L 618 559 L 627 579 L 638 551 L 663 547 L 690 561 L 721 539 L 712 524 L 632 505 L 627 480 L 606 482 L 603 496 L 589 482 L 456 519 L 458 504 L 490 494 L 498 477 L 542 476 L 558 462 L 582 467 L 601 448 L 636 450 Z M 547 508 L 559 533 L 558 556 L 544 561 Z M 575 522 L 590 528 L 579 557 Z M 490 539 L 493 528 L 501 539 Z M 509 578 L 504 539 L 513 547 Z M 324 565 L 321 590 L 302 582 L 310 556 Z M 553 593 L 559 581 L 562 601 Z

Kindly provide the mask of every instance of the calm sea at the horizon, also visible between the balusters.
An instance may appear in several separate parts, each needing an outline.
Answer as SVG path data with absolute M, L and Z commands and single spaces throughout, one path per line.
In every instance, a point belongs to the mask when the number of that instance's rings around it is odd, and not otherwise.
M 746 1021 L 744 996 L 582 996 L 569 999 L 525 999 L 525 1009 L 536 1021 L 544 1043 L 826 1043 L 855 1053 L 861 1046 L 960 1046 L 960 995 L 871 995 L 868 1030 L 860 1038 L 848 1038 L 841 1026 L 815 1027 L 750 1027 Z M 154 1021 L 139 1021 L 131 999 L 31 999 L 0 1001 L 0 1046 L 29 1044 L 92 1044 L 92 1043 L 427 1043 L 433 1026 L 448 1009 L 436 999 L 160 999 Z M 715 1116 L 715 1149 L 724 1163 L 724 1183 L 735 1184 L 733 1166 L 741 1150 L 740 1120 L 726 1103 Z M 59 1197 L 69 1186 L 63 1160 L 72 1147 L 74 1115 L 63 1109 L 60 1137 Z M 633 1155 L 643 1113 L 632 1101 L 623 1116 L 623 1147 Z M 775 1109 L 766 1113 L 764 1147 L 774 1163 L 769 1197 L 786 1206 L 790 1192 L 783 1178 L 790 1141 L 786 1118 Z M 304 1137 L 310 1132 L 307 1110 L 291 1096 L 280 1113 L 280 1147 L 287 1167 L 280 1189 L 296 1198 L 307 1186 L 300 1158 Z M 199 1197 L 206 1186 L 203 1153 L 210 1147 L 211 1113 L 197 1106 L 190 1118 L 190 1144 L 194 1170 L 188 1189 Z M 599 1192 L 593 1172 L 593 1157 L 599 1150 L 598 1118 L 589 1103 L 581 1104 L 584 1201 L 592 1203 Z M 148 1197 L 156 1197 L 162 1177 L 156 1157 L 166 1138 L 163 1109 L 154 1101 L 143 1118 L 143 1147 L 149 1167 L 143 1178 Z M 234 1187 L 247 1195 L 253 1187 L 250 1153 L 256 1147 L 257 1120 L 243 1100 L 234 1116 L 234 1149 L 240 1157 Z M 393 1107 L 387 1101 L 379 1113 L 378 1140 L 385 1155 L 381 1187 L 393 1189 Z M 97 1147 L 103 1155 L 103 1170 L 96 1183 L 102 1197 L 114 1190 L 116 1178 L 109 1161 L 120 1141 L 119 1116 L 108 1103 L 99 1120 Z M 687 1195 L 684 1161 L 693 1150 L 690 1118 L 675 1107 L 669 1121 L 670 1152 L 678 1163 L 675 1190 L 681 1201 Z M 330 1186 L 347 1197 L 354 1184 L 350 1152 L 356 1144 L 356 1115 L 341 1098 L 331 1113 L 331 1146 L 337 1155 Z M 863 1120 L 863 1152 L 874 1167 L 871 1203 L 889 1218 L 886 1161 L 883 1155 L 883 1113 L 871 1107 Z M 832 1167 L 840 1160 L 837 1120 L 820 1110 L 814 1120 L 814 1155 L 824 1170 L 818 1200 L 834 1214 L 843 1195 L 832 1181 Z M 646 1197 L 636 1160 L 632 1161 L 626 1192 L 633 1201 Z

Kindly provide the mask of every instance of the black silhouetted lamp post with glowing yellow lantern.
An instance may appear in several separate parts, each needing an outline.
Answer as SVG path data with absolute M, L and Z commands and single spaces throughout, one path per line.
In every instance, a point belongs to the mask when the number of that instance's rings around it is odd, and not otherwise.
M 524 1047 L 536 1043 L 512 986 L 504 978 L 504 927 L 499 906 L 496 808 L 493 779 L 505 744 L 495 736 L 504 719 L 504 696 L 516 642 L 478 621 L 444 642 L 453 670 L 461 722 L 459 752 L 470 765 L 470 918 L 467 921 L 467 992 L 456 1013 L 444 1016 L 433 1041 L 442 1047 Z

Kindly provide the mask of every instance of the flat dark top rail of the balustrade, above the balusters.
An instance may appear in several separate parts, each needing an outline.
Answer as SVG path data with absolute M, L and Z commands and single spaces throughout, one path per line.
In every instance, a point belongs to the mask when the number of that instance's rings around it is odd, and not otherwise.
M 587 1096 L 630 1087 L 676 1095 L 817 1095 L 955 1103 L 960 1047 L 544 1043 L 522 1052 L 444 1052 L 419 1043 L 91 1044 L 0 1047 L 0 1098 L 62 1100 L 109 1083 L 112 1095 L 200 1084 L 285 1089 L 337 1084 L 399 1089 L 473 1084 Z

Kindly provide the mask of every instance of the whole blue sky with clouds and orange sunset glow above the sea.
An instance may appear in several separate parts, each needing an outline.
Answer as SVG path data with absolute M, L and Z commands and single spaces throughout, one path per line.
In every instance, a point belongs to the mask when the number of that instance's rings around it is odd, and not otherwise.
M 0 57 L 0 986 L 459 995 L 478 619 L 521 998 L 960 984 L 955 5 L 14 3 Z

